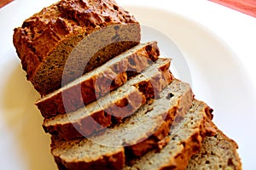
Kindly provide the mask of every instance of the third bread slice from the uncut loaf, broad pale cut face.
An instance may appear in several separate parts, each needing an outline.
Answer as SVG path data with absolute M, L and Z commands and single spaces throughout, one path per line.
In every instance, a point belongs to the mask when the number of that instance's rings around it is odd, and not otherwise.
M 160 92 L 158 99 L 149 99 L 137 113 L 127 117 L 125 122 L 108 128 L 100 135 L 68 141 L 54 137 L 52 155 L 62 169 L 120 169 L 124 166 L 126 156 L 131 156 L 124 147 L 132 150 L 132 145 L 142 142 L 147 144 L 145 147 L 135 147 L 140 154 L 152 147 L 159 148 L 161 144 L 158 141 L 168 135 L 166 129 L 170 129 L 175 115 L 183 116 L 188 112 L 192 98 L 189 85 L 174 80 Z M 118 166 L 115 167 L 116 165 Z

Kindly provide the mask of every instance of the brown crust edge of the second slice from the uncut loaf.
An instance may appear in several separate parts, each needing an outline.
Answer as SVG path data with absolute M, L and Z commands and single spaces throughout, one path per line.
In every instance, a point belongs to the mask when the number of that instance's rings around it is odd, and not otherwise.
M 166 62 L 165 65 L 170 65 L 170 60 Z M 94 111 L 90 116 L 83 116 L 75 122 L 46 125 L 47 123 L 45 121 L 48 120 L 44 120 L 43 127 L 45 132 L 55 134 L 61 139 L 68 140 L 88 136 L 104 127 L 109 127 L 113 122 L 121 122 L 125 116 L 129 116 L 134 111 L 137 111 L 137 109 L 146 102 L 147 98 L 154 97 L 155 94 L 160 93 L 160 91 L 170 83 L 168 81 L 172 81 L 173 78 L 169 70 L 156 72 L 155 75 L 156 76 L 148 78 L 147 81 L 137 83 L 137 88 L 133 87 L 134 90 L 132 90 L 130 94 L 122 96 L 122 104 L 120 104 L 119 101 L 118 103 L 110 103 L 108 108 L 101 108 L 101 111 Z M 166 79 L 166 77 L 169 78 Z M 151 91 L 154 93 L 148 95 L 147 92 Z M 125 108 L 117 107 L 117 105 L 123 105 L 123 103 L 125 103 Z

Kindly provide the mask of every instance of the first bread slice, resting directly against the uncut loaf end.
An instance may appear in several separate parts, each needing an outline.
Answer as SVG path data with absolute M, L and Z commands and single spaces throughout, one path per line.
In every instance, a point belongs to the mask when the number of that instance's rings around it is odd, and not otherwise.
M 158 59 L 159 55 L 157 42 L 140 43 L 114 59 L 110 59 L 94 71 L 45 95 L 37 101 L 36 105 L 42 116 L 46 118 L 59 113 L 77 111 L 124 84 L 127 78 L 143 71 L 152 64 L 152 61 Z

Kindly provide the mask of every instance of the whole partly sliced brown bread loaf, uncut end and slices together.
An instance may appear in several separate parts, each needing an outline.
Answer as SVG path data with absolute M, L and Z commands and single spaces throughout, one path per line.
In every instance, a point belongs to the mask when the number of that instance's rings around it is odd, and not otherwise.
M 212 109 L 172 75 L 157 42 L 139 41 L 137 20 L 113 0 L 61 0 L 15 29 L 58 168 L 241 169 Z M 95 52 L 97 42 L 108 45 Z

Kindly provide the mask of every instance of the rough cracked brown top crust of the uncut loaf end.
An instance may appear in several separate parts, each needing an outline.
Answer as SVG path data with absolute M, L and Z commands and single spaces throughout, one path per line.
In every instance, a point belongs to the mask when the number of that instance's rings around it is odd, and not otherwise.
M 118 8 L 119 13 L 115 8 Z M 89 35 L 113 23 L 137 23 L 137 20 L 113 0 L 62 0 L 44 8 L 25 20 L 21 27 L 15 28 L 14 43 L 20 59 L 38 60 L 33 65 L 24 65 L 28 77 L 32 77 L 39 63 L 62 39 L 84 32 Z M 32 54 L 26 54 L 28 52 Z

